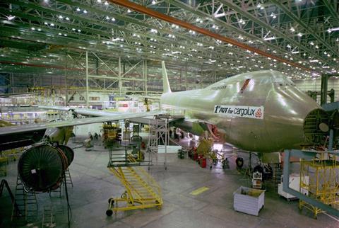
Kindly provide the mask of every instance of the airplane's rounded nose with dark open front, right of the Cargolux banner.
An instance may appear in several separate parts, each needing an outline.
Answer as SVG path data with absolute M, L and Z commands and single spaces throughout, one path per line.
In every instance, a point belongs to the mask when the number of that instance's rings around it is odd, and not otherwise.
M 270 91 L 264 121 L 268 137 L 280 149 L 321 144 L 328 128 L 327 113 L 295 86 L 277 86 Z

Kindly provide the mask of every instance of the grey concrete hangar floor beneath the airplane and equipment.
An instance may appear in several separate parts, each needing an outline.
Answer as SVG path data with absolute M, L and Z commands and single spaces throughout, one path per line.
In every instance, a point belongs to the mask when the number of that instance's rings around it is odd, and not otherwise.
M 79 147 L 78 144 L 69 144 Z M 220 166 L 201 169 L 191 159 L 178 159 L 177 154 L 167 154 L 167 171 L 163 166 L 165 154 L 158 154 L 157 164 L 150 173 L 162 187 L 164 205 L 162 210 L 145 209 L 118 212 L 107 217 L 107 200 L 119 197 L 124 192 L 117 178 L 107 169 L 108 152 L 100 146 L 92 151 L 83 147 L 74 149 L 75 159 L 69 170 L 73 188 L 69 186 L 71 205 L 71 227 L 339 227 L 339 220 L 319 215 L 314 220 L 307 210 L 299 212 L 298 202 L 287 202 L 273 188 L 268 188 L 265 207 L 259 216 L 246 215 L 233 209 L 233 192 L 239 186 L 249 186 L 234 167 L 222 170 Z M 15 188 L 16 162 L 8 165 L 7 181 Z M 203 186 L 209 189 L 199 195 L 191 191 Z M 37 221 L 25 227 L 42 227 L 42 208 L 53 205 L 56 227 L 67 227 L 66 200 L 52 198 L 47 193 L 39 194 L 39 216 Z M 0 227 L 8 227 L 11 216 L 11 201 L 8 193 L 0 198 Z

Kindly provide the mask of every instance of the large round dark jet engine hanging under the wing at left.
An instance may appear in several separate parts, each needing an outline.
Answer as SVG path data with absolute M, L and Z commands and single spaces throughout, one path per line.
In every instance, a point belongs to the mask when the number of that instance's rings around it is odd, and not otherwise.
M 18 173 L 25 190 L 43 193 L 59 188 L 73 158 L 73 149 L 64 145 L 33 145 L 18 161 Z

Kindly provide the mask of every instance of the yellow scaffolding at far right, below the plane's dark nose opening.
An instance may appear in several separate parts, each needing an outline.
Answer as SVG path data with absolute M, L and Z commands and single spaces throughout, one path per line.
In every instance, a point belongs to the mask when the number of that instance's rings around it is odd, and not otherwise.
M 309 197 L 339 209 L 339 162 L 334 154 L 321 152 L 312 160 L 302 159 L 300 163 L 299 191 L 307 190 Z M 308 178 L 307 178 L 308 177 Z M 324 210 L 299 200 L 299 209 L 307 208 L 314 218 Z

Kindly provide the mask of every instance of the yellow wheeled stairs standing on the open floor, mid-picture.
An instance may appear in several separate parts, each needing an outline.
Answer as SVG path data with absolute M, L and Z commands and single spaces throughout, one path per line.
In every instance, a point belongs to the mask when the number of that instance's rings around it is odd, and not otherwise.
M 136 210 L 143 208 L 162 207 L 162 195 L 159 184 L 145 169 L 138 165 L 138 161 L 133 156 L 128 156 L 129 166 L 112 166 L 109 171 L 117 176 L 119 181 L 126 188 L 120 198 L 109 198 L 107 216 L 113 212 Z

